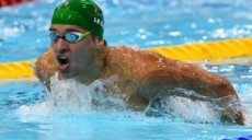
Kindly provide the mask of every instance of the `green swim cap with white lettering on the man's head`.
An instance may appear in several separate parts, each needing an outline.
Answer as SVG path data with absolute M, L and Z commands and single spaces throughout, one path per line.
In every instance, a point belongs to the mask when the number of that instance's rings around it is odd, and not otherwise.
M 55 9 L 51 24 L 80 26 L 103 38 L 103 13 L 92 0 L 66 0 Z

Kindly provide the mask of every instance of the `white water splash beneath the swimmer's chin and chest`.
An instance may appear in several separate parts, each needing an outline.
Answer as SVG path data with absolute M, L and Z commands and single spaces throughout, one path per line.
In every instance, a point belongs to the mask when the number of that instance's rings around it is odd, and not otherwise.
M 58 80 L 57 74 L 50 79 L 50 92 L 45 102 L 21 106 L 16 112 L 21 115 L 47 115 L 47 114 L 89 114 L 96 109 L 118 109 L 126 105 L 117 93 L 108 92 L 105 86 L 116 89 L 117 77 L 106 80 L 96 80 L 89 85 L 76 80 Z M 116 91 L 116 90 L 114 90 Z M 103 107 L 99 107 L 99 106 Z

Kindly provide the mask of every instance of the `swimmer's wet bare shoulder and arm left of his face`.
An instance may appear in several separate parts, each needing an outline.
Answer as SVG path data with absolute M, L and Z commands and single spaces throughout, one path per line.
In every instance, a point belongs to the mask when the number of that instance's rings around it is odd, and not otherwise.
M 34 71 L 39 81 L 49 90 L 50 77 L 57 71 L 56 61 L 50 48 L 37 59 Z

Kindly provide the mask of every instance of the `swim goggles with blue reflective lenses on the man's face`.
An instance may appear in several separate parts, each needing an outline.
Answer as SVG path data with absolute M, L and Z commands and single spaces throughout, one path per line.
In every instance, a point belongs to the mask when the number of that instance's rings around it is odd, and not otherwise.
M 59 38 L 62 38 L 67 40 L 68 43 L 77 43 L 81 40 L 82 38 L 87 37 L 90 34 L 90 32 L 87 33 L 80 33 L 80 32 L 68 32 L 64 36 L 59 36 L 56 32 L 49 33 L 49 38 L 51 42 L 58 42 Z

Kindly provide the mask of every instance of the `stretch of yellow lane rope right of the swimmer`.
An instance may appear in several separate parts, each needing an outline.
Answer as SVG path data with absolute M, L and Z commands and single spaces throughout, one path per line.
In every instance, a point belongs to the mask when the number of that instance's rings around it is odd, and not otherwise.
M 149 48 L 149 50 L 169 58 L 192 61 L 245 57 L 252 56 L 252 37 L 169 47 L 162 46 Z

